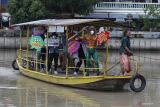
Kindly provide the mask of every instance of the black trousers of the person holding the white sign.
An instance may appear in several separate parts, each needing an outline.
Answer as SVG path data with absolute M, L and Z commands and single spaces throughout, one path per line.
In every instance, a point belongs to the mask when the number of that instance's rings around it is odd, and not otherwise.
M 51 69 L 53 58 L 54 58 L 54 70 L 55 71 L 57 70 L 58 56 L 59 56 L 59 53 L 49 53 L 49 55 L 48 55 L 48 71 Z

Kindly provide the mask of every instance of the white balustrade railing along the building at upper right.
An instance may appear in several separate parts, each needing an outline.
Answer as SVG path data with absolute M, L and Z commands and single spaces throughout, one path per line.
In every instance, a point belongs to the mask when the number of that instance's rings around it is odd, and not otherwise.
M 100 2 L 95 9 L 144 9 L 150 6 L 160 8 L 160 3 Z

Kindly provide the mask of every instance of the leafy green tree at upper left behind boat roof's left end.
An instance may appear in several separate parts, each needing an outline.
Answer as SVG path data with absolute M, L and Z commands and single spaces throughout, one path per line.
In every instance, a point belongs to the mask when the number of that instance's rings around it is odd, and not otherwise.
M 9 0 L 8 11 L 13 23 L 44 19 L 49 13 L 40 0 Z

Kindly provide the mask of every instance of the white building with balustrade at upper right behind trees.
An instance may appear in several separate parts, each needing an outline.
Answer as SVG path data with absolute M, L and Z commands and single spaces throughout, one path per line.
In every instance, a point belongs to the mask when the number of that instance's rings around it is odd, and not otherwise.
M 144 8 L 148 6 L 160 8 L 160 0 L 100 0 L 93 13 L 85 17 L 124 22 L 128 18 L 136 19 L 145 15 Z

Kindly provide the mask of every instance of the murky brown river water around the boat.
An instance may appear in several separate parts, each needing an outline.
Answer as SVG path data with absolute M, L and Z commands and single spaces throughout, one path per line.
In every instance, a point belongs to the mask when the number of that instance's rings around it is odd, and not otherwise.
M 0 107 L 159 107 L 160 52 L 134 52 L 147 80 L 144 91 L 90 91 L 68 88 L 21 75 L 11 68 L 15 50 L 0 50 Z M 103 56 L 102 53 L 100 53 Z M 101 57 L 100 59 L 103 59 Z M 118 61 L 118 52 L 109 53 L 109 62 Z

